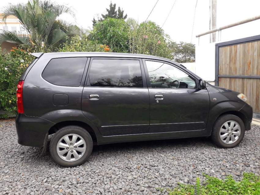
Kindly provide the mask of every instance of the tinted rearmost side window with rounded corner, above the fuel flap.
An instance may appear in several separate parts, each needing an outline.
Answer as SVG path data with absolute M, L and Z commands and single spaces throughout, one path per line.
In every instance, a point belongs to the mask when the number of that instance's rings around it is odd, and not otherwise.
M 43 71 L 43 78 L 61 86 L 80 86 L 86 57 L 65 57 L 52 59 Z

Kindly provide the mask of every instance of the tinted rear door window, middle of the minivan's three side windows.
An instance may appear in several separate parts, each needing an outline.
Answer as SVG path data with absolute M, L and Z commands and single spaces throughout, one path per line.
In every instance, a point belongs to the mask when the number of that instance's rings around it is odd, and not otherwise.
M 88 86 L 143 87 L 139 60 L 94 59 Z

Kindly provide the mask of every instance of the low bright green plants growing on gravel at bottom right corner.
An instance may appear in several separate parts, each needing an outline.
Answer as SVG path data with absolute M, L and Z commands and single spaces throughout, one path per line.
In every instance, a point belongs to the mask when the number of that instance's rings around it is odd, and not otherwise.
M 195 185 L 178 184 L 169 191 L 169 195 L 259 195 L 260 177 L 253 173 L 244 173 L 240 182 L 236 182 L 231 175 L 225 180 L 204 175 L 206 181 L 201 185 L 199 178 Z M 160 189 L 162 190 L 162 189 Z M 196 193 L 195 193 L 196 191 Z

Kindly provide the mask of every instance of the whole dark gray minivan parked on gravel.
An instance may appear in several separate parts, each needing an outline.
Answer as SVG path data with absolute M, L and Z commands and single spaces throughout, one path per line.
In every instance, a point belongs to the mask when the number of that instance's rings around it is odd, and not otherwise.
M 206 83 L 171 60 L 128 53 L 32 53 L 17 85 L 18 143 L 46 148 L 65 167 L 94 144 L 211 136 L 222 148 L 250 130 L 239 92 Z

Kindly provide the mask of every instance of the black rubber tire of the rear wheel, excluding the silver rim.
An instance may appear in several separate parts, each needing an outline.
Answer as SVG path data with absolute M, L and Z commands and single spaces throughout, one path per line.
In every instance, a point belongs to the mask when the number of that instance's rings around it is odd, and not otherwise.
M 67 134 L 80 135 L 86 143 L 85 153 L 83 154 L 83 156 L 81 156 L 76 161 L 69 162 L 69 161 L 63 160 L 57 153 L 56 147 L 57 147 L 59 140 Z M 83 164 L 88 159 L 88 157 L 91 155 L 92 149 L 93 149 L 93 142 L 92 142 L 91 135 L 84 128 L 79 127 L 79 126 L 74 126 L 74 125 L 62 127 L 59 131 L 57 131 L 54 134 L 53 138 L 50 141 L 50 155 L 51 155 L 51 157 L 53 158 L 53 160 L 56 163 L 58 163 L 58 164 L 60 164 L 61 166 L 64 166 L 64 167 L 75 167 L 75 166 L 78 166 L 80 164 Z

